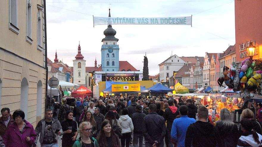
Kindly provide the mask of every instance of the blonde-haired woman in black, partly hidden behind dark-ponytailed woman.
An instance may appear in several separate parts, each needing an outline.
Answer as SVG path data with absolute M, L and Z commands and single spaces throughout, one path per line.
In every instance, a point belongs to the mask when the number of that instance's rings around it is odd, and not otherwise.
M 244 109 L 244 110 L 242 111 L 241 115 L 240 115 L 240 121 L 241 121 L 242 119 L 249 119 L 249 120 L 251 120 L 253 129 L 254 129 L 257 133 L 259 133 L 259 134 L 262 135 L 262 131 L 261 131 L 261 127 L 262 127 L 262 126 L 261 126 L 260 122 L 257 122 L 257 121 L 254 119 L 254 113 L 253 113 L 252 110 L 250 110 L 250 109 Z M 243 131 L 241 130 L 241 126 L 239 127 L 239 133 L 240 133 L 240 135 L 243 134 Z

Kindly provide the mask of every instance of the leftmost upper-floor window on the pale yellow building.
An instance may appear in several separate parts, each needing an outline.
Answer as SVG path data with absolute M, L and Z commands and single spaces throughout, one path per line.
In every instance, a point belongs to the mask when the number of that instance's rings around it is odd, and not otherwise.
M 9 0 L 9 29 L 16 34 L 19 33 L 17 7 L 17 0 Z

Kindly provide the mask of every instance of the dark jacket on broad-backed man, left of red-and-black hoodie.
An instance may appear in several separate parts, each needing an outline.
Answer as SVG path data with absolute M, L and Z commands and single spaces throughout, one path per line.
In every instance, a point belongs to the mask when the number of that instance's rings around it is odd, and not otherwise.
M 165 119 L 156 112 L 146 115 L 143 121 L 143 134 L 146 142 L 162 142 L 166 135 Z

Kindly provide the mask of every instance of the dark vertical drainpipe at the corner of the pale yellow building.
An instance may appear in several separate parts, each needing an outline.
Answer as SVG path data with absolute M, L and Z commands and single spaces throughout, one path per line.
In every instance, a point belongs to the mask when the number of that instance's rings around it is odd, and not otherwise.
M 47 35 L 46 35 L 46 0 L 44 0 L 44 18 L 45 18 L 45 65 L 46 65 L 46 99 L 47 99 L 47 84 L 48 84 L 48 67 L 47 67 Z M 45 106 L 47 100 L 45 100 Z

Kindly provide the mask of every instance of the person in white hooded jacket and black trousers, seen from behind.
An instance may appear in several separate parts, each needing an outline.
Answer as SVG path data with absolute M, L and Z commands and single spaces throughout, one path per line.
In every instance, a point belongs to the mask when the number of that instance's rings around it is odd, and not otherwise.
M 129 142 L 131 139 L 131 132 L 134 130 L 132 119 L 128 116 L 127 108 L 122 110 L 122 115 L 118 119 L 118 125 L 121 126 L 121 147 L 129 147 Z

